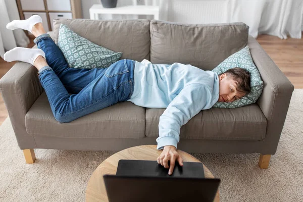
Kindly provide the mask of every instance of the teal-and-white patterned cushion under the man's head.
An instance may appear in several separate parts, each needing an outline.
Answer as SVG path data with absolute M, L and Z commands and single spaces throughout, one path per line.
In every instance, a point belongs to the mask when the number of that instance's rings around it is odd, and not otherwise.
M 250 73 L 250 93 L 246 94 L 240 99 L 231 103 L 217 102 L 214 108 L 238 108 L 252 103 L 256 103 L 263 90 L 263 81 L 260 73 L 255 66 L 250 56 L 249 47 L 246 46 L 237 53 L 229 56 L 220 65 L 218 65 L 213 72 L 217 74 L 224 73 L 226 70 L 240 67 L 246 69 Z

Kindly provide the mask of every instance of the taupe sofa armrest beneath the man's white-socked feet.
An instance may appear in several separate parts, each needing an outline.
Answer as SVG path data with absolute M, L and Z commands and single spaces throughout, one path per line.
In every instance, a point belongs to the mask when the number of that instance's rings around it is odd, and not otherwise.
M 54 33 L 48 33 L 54 39 Z M 37 48 L 37 45 L 33 48 Z M 19 146 L 24 142 L 24 138 L 19 138 L 19 136 L 29 135 L 25 128 L 25 115 L 44 91 L 37 72 L 38 70 L 31 64 L 17 62 L 0 79 L 0 92 L 9 112 Z

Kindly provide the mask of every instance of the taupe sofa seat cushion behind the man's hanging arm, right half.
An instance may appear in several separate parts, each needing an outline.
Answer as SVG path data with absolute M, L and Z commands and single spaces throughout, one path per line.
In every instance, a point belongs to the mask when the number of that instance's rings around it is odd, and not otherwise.
M 147 137 L 159 136 L 159 118 L 165 109 L 146 108 Z M 257 104 L 200 111 L 181 127 L 180 139 L 262 140 L 267 120 Z

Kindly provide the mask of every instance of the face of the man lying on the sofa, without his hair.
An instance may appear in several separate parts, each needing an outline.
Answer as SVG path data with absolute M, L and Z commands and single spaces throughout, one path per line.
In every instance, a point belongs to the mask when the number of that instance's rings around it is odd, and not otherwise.
M 218 102 L 231 103 L 245 95 L 244 92 L 238 92 L 236 82 L 228 78 L 227 74 L 222 74 L 219 77 L 219 100 Z

